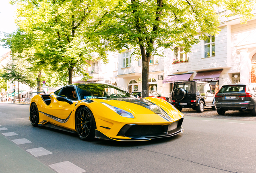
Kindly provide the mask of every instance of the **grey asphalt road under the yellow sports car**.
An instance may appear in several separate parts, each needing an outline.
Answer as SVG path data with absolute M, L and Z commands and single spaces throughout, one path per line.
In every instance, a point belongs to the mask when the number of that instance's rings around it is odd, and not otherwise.
M 185 113 L 184 133 L 174 137 L 143 142 L 86 142 L 76 134 L 33 127 L 28 116 L 27 105 L 0 104 L 0 129 L 8 129 L 0 130 L 0 173 L 79 172 L 68 170 L 68 163 L 87 173 L 256 172 L 255 121 Z M 2 135 L 9 132 L 17 135 Z M 17 145 L 12 141 L 15 139 L 31 143 Z M 38 147 L 51 154 L 35 157 L 26 151 Z M 10 161 L 5 159 L 8 153 Z M 53 164 L 63 162 L 59 169 L 52 168 Z

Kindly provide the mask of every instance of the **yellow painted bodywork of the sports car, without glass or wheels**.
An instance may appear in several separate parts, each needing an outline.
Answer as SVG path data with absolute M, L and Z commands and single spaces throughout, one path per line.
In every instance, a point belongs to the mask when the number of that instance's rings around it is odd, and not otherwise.
M 117 136 L 120 129 L 126 124 L 136 124 L 136 125 L 169 125 L 175 121 L 181 119 L 184 115 L 175 109 L 170 103 L 164 101 L 162 99 L 154 98 L 154 97 L 147 97 L 143 98 L 146 99 L 159 107 L 161 107 L 171 118 L 171 122 L 165 120 L 161 116 L 157 115 L 153 111 L 142 107 L 140 105 L 136 105 L 134 103 L 120 101 L 120 100 L 107 100 L 107 99 L 90 99 L 93 100 L 92 103 L 87 103 L 82 101 L 74 101 L 72 105 L 57 101 L 56 95 L 54 93 L 50 93 L 52 97 L 50 105 L 46 105 L 40 95 L 36 95 L 31 99 L 31 103 L 36 103 L 38 111 L 39 111 L 39 122 L 41 121 L 48 121 L 54 125 L 58 125 L 60 127 L 64 127 L 66 129 L 74 130 L 75 129 L 75 113 L 76 110 L 79 109 L 81 106 L 88 107 L 93 116 L 95 118 L 97 131 L 100 131 L 105 136 L 109 137 L 110 139 L 119 141 L 124 139 L 130 139 L 124 136 Z M 108 105 L 118 107 L 129 113 L 134 115 L 134 119 L 122 117 L 116 112 L 112 111 L 101 102 L 107 103 Z M 54 117 L 58 117 L 59 119 L 67 119 L 70 115 L 69 119 L 66 123 L 60 123 L 49 116 L 43 113 L 52 115 Z M 106 129 L 107 127 L 109 129 Z M 149 139 L 150 140 L 150 139 Z

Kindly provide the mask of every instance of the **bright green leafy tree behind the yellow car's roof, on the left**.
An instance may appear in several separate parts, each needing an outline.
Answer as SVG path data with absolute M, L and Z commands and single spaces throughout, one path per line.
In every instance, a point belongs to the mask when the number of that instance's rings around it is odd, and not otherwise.
M 73 74 L 83 75 L 84 80 L 90 78 L 85 67 L 88 66 L 87 60 L 95 60 L 91 55 L 97 54 L 97 57 L 107 62 L 105 44 L 92 33 L 113 2 L 114 0 L 11 1 L 17 4 L 19 30 L 26 35 L 26 39 L 31 38 L 27 50 L 34 51 L 33 64 L 52 72 L 68 74 L 69 84 L 72 83 Z M 18 47 L 14 50 L 17 49 Z

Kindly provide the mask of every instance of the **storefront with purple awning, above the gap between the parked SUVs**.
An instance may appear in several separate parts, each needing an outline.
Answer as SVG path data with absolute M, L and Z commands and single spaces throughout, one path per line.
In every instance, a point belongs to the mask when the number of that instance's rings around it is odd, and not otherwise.
M 219 76 L 221 75 L 221 72 L 222 70 L 197 72 L 193 80 L 210 83 L 211 89 L 216 93 L 219 91 Z

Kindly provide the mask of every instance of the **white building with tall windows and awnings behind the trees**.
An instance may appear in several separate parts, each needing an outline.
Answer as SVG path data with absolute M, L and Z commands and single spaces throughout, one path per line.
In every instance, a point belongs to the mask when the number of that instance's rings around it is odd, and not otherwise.
M 223 84 L 256 82 L 256 20 L 240 24 L 237 16 L 220 19 L 219 34 L 193 45 L 189 54 L 183 48 L 158 50 L 164 56 L 151 58 L 149 89 L 169 97 L 175 81 L 202 80 L 215 91 Z M 131 56 L 132 51 L 110 54 L 108 64 L 89 62 L 89 72 L 98 70 L 91 72 L 93 79 L 87 82 L 116 84 L 130 93 L 142 91 L 142 63 Z

